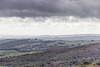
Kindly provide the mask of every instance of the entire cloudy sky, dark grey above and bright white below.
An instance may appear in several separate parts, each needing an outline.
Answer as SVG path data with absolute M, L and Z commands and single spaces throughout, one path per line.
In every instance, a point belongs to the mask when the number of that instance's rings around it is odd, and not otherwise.
M 0 0 L 0 35 L 100 34 L 100 0 Z

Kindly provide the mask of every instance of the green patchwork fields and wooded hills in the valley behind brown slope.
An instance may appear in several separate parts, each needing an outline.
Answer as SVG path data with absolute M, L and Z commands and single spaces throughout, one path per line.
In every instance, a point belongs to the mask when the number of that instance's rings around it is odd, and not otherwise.
M 59 48 L 72 48 L 76 46 L 100 43 L 100 41 L 63 41 L 40 39 L 6 39 L 0 41 L 0 57 L 17 56 L 28 53 L 43 52 Z

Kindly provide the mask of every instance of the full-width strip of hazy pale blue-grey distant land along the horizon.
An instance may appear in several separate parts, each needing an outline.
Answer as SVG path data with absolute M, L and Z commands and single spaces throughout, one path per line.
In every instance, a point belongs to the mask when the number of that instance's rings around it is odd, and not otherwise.
M 30 36 L 18 36 L 18 35 L 2 35 L 2 39 L 43 39 L 43 40 L 66 40 L 66 41 L 75 41 L 75 40 L 100 40 L 100 34 L 73 34 L 73 35 L 30 35 Z

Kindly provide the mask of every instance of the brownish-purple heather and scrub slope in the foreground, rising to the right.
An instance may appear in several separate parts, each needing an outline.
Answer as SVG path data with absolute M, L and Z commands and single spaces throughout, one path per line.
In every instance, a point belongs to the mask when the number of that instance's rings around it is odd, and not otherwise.
M 95 62 L 100 59 L 100 44 L 89 44 L 74 48 L 55 49 L 46 52 L 21 56 L 0 58 L 0 65 L 10 67 L 59 67 L 75 66 L 87 60 Z

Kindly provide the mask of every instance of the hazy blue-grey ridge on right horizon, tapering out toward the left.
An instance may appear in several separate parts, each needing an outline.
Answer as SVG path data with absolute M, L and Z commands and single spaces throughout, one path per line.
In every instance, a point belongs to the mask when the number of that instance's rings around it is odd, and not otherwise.
M 80 35 L 45 35 L 38 36 L 38 39 L 47 39 L 47 40 L 66 40 L 66 41 L 75 41 L 75 40 L 100 40 L 100 35 L 95 34 L 80 34 Z

